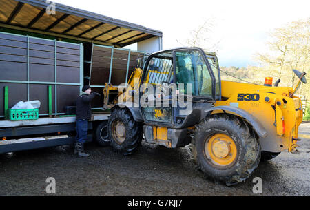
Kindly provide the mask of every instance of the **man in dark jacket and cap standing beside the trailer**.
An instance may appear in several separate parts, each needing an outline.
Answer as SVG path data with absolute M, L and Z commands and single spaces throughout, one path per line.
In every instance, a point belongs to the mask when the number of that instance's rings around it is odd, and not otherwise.
M 84 143 L 87 139 L 88 120 L 92 116 L 92 107 L 90 102 L 94 96 L 99 93 L 92 92 L 89 85 L 82 88 L 83 94 L 76 100 L 76 143 L 74 147 L 74 154 L 79 157 L 88 157 L 89 154 L 84 151 Z

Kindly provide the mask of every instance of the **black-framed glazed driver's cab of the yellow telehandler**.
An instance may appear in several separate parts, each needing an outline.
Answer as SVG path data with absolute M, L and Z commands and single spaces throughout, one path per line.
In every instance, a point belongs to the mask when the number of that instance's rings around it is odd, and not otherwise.
M 146 124 L 181 128 L 197 103 L 214 103 L 215 77 L 200 48 L 158 52 L 145 68 L 140 103 Z

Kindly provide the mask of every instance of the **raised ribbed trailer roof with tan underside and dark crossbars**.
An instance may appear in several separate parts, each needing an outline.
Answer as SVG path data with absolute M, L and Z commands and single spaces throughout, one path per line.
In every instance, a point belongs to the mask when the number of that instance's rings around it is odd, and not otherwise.
M 116 47 L 163 35 L 158 30 L 59 3 L 56 13 L 48 14 L 48 6 L 50 3 L 43 0 L 0 0 L 0 27 Z

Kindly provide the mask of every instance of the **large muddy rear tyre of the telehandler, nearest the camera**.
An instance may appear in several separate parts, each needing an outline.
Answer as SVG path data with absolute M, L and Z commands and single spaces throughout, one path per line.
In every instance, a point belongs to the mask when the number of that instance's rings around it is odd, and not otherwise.
M 209 141 L 216 135 L 229 136 L 235 145 L 234 162 L 222 167 L 207 156 Z M 235 185 L 248 178 L 260 162 L 260 145 L 254 131 L 241 118 L 231 114 L 207 116 L 195 129 L 192 152 L 198 167 L 207 176 Z M 206 145 L 207 144 L 207 145 Z M 229 154 L 231 155 L 231 154 Z

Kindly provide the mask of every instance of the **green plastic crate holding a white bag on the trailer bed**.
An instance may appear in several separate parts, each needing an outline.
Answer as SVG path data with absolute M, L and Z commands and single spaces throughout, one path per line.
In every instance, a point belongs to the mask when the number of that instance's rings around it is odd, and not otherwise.
M 37 120 L 39 109 L 8 109 L 8 118 L 12 121 Z

